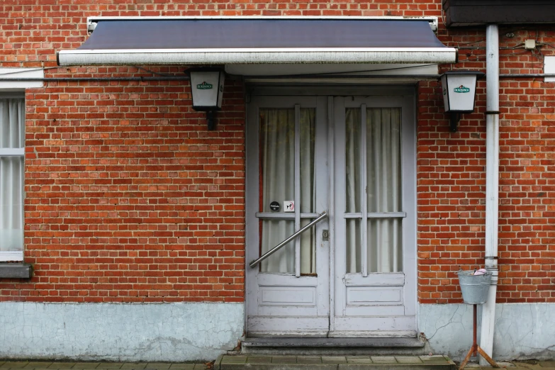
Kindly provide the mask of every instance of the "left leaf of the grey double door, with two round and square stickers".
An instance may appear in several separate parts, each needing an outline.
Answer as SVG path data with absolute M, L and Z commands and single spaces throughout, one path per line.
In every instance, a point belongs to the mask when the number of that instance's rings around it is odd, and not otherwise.
M 254 96 L 247 105 L 247 261 L 327 211 L 327 98 Z M 327 220 L 251 268 L 247 333 L 325 336 Z

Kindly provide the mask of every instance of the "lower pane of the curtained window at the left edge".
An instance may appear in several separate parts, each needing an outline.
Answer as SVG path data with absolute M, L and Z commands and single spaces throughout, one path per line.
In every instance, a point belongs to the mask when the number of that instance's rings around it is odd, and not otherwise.
M 0 157 L 0 251 L 23 250 L 23 158 Z

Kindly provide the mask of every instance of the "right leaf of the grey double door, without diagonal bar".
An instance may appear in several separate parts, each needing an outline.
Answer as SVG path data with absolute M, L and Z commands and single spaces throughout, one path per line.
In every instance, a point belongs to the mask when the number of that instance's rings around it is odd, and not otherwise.
M 413 96 L 334 99 L 332 337 L 416 335 Z

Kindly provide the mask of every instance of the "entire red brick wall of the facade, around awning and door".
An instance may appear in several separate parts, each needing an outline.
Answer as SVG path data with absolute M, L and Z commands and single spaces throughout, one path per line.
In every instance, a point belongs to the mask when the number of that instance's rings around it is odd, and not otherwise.
M 1 67 L 47 76 L 152 76 L 128 67 L 55 67 L 86 39 L 87 16 L 438 16 L 459 65 L 485 69 L 484 28 L 446 30 L 440 0 L 30 1 L 0 5 Z M 42 4 L 42 5 L 38 5 Z M 555 28 L 501 28 L 501 73 L 543 72 Z M 513 38 L 505 37 L 512 32 Z M 537 38 L 542 54 L 518 46 Z M 181 75 L 181 69 L 156 69 Z M 206 131 L 183 82 L 48 82 L 28 89 L 26 261 L 30 282 L 0 281 L 0 301 L 242 301 L 242 84 L 226 84 Z M 449 133 L 438 82 L 417 96 L 421 303 L 461 301 L 454 271 L 483 265 L 485 81 L 476 113 Z M 555 84 L 502 79 L 499 302 L 555 301 Z

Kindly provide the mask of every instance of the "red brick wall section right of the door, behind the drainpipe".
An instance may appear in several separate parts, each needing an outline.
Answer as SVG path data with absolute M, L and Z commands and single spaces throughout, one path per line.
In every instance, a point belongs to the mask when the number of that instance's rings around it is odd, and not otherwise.
M 454 69 L 485 72 L 485 28 L 440 34 L 461 47 Z M 552 46 L 518 47 L 530 38 Z M 500 27 L 500 47 L 501 74 L 542 73 L 544 55 L 554 55 L 555 28 Z M 449 133 L 440 85 L 421 82 L 417 99 L 421 303 L 460 302 L 454 271 L 484 264 L 486 81 L 478 82 L 476 113 L 462 117 L 458 133 Z M 500 79 L 498 303 L 555 302 L 554 93 L 555 84 L 541 78 Z

